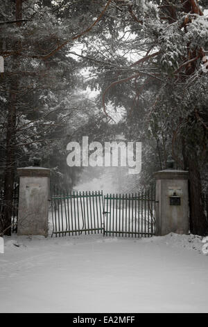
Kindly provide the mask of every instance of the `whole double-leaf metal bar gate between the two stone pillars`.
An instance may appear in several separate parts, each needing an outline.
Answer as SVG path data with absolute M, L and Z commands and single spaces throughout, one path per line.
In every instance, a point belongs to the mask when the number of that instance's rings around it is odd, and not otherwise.
M 103 234 L 116 237 L 150 237 L 156 225 L 155 191 L 135 194 L 53 191 L 52 235 Z

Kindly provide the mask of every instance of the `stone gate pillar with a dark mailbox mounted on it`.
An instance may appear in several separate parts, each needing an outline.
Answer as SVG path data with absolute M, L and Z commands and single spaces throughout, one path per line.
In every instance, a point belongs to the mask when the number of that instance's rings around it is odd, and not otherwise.
M 189 233 L 188 175 L 184 170 L 161 170 L 156 179 L 156 234 Z

